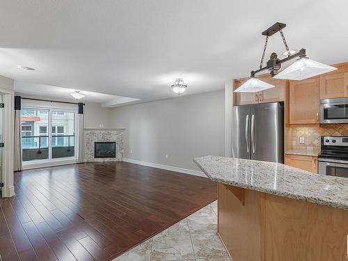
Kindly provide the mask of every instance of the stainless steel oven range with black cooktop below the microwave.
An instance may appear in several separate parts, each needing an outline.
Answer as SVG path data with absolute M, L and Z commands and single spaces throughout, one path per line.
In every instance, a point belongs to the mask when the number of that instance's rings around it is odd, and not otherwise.
M 319 174 L 348 177 L 348 137 L 322 136 L 318 163 Z

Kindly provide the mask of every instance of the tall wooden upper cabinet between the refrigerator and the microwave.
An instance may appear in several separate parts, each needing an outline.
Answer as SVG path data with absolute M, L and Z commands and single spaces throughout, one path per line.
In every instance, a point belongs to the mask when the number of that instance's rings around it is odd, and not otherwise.
M 290 124 L 319 124 L 319 77 L 290 81 Z

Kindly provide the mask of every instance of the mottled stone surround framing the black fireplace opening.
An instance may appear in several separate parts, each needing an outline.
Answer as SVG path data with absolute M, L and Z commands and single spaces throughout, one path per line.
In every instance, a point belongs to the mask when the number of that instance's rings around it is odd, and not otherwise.
M 123 161 L 125 129 L 84 129 L 85 161 Z M 115 142 L 116 157 L 95 158 L 95 142 Z

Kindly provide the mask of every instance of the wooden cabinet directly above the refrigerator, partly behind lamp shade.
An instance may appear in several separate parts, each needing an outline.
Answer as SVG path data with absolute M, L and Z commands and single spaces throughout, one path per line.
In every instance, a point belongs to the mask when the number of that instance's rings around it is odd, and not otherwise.
M 261 75 L 258 79 L 272 84 L 275 87 L 262 90 L 258 93 L 234 93 L 235 105 L 284 101 L 285 80 L 273 79 L 269 74 Z M 235 80 L 235 89 L 244 84 L 247 80 L 248 79 Z

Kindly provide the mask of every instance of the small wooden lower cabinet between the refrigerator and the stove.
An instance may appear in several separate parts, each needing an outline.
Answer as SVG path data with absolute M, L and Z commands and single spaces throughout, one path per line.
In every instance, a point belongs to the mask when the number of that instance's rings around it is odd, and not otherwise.
M 285 165 L 301 168 L 304 171 L 318 173 L 318 157 L 306 155 L 285 155 Z

